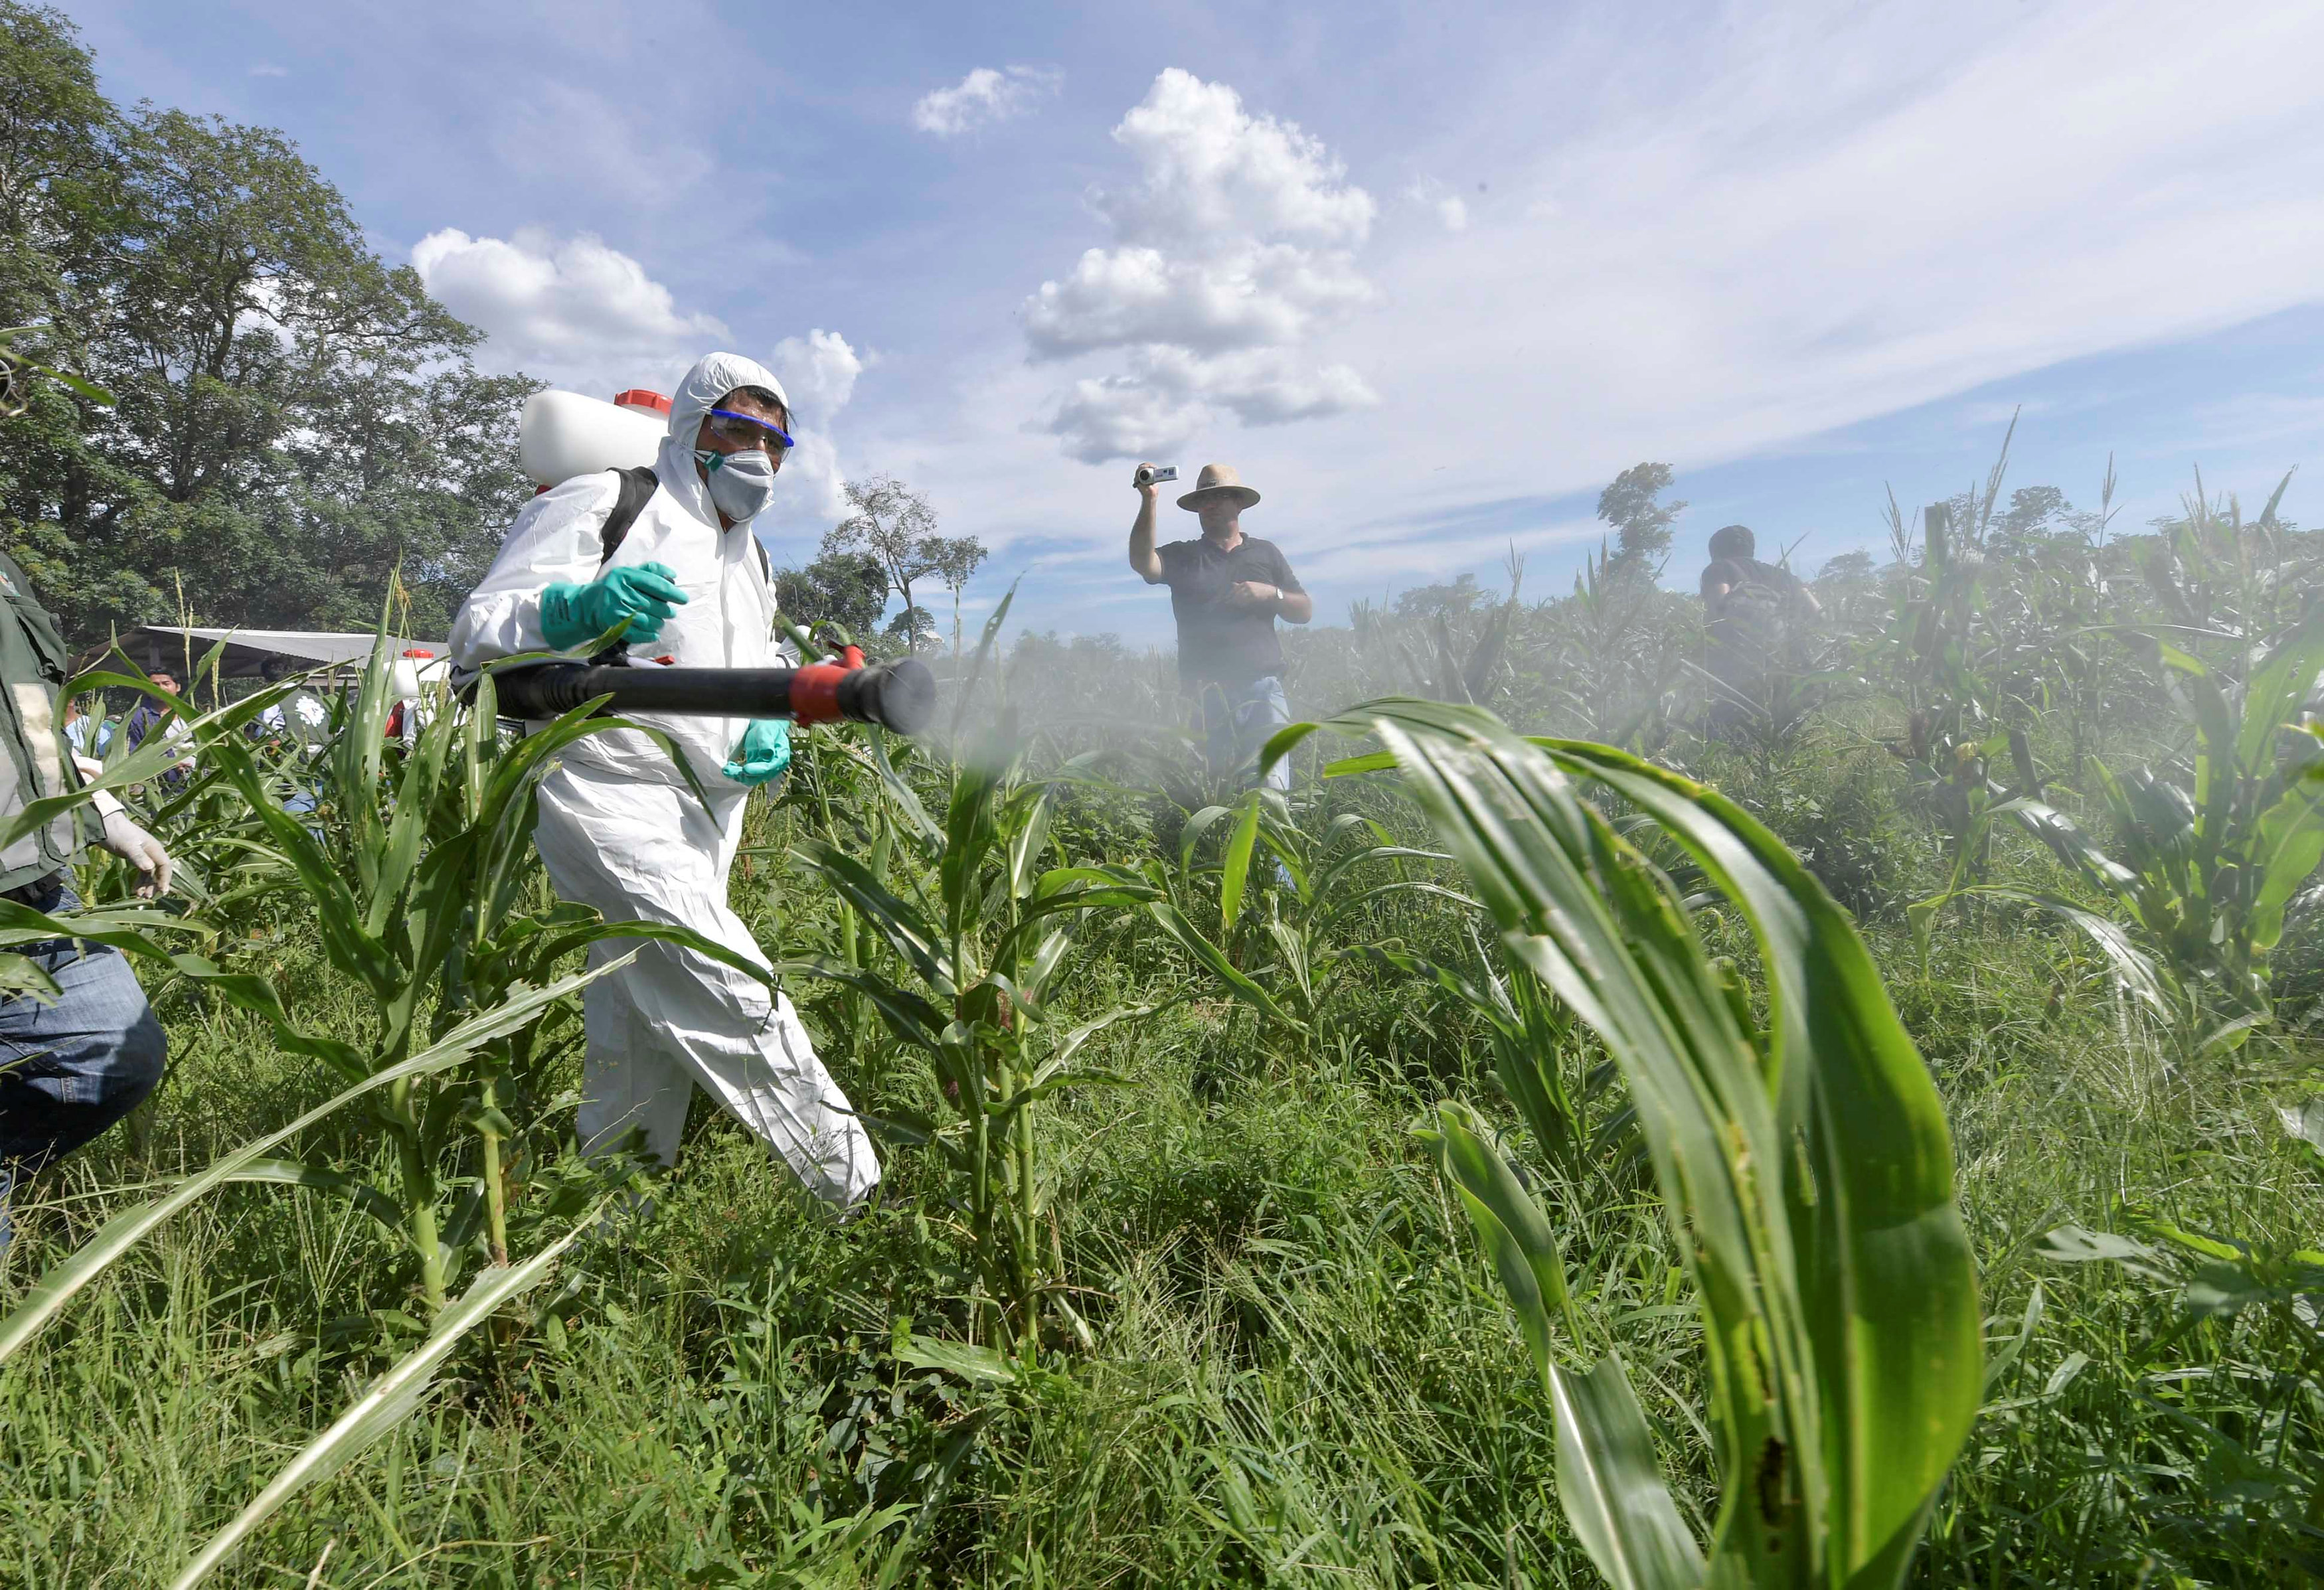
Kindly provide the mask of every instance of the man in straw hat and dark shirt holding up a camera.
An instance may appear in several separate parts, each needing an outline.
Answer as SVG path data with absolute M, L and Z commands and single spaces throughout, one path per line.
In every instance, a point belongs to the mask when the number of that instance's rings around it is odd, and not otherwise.
M 1211 774 L 1248 776 L 1267 737 L 1292 721 L 1276 618 L 1306 623 L 1315 600 L 1274 542 L 1243 535 L 1243 509 L 1257 504 L 1260 493 L 1229 465 L 1204 465 L 1195 490 L 1178 497 L 1178 507 L 1202 518 L 1202 537 L 1155 546 L 1150 472 L 1153 465 L 1139 465 L 1132 477 L 1139 516 L 1129 525 L 1129 567 L 1148 586 L 1169 586 L 1178 688 L 1195 697 Z M 1290 760 L 1276 762 L 1267 781 L 1290 788 Z

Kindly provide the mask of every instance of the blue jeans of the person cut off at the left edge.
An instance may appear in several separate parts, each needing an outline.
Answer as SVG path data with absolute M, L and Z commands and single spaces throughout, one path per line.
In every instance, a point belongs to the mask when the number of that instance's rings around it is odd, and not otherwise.
M 79 897 L 51 881 L 37 911 Z M 137 1109 L 160 1081 L 167 1039 L 121 951 L 46 939 L 21 951 L 56 979 L 56 1004 L 0 1000 L 0 1248 L 12 1237 L 9 1188 Z

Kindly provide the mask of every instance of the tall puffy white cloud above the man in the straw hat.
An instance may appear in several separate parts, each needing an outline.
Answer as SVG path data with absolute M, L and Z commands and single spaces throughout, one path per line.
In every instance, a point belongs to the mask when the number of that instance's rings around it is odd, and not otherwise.
M 1297 356 L 1378 298 L 1355 263 L 1378 207 L 1322 139 L 1169 67 L 1113 142 L 1139 163 L 1134 184 L 1090 193 L 1113 246 L 1023 307 L 1037 360 L 1127 356 L 1060 398 L 1048 430 L 1069 456 L 1169 451 L 1220 414 L 1278 425 L 1378 402 L 1355 370 Z

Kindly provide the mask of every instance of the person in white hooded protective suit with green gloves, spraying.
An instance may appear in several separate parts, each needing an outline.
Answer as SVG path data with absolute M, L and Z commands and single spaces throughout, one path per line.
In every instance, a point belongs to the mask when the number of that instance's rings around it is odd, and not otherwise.
M 790 402 L 762 365 L 711 353 L 669 404 L 655 490 L 607 556 L 621 474 L 583 474 L 516 516 L 490 574 L 453 623 L 460 669 L 521 651 L 569 649 L 627 618 L 632 658 L 681 667 L 779 667 L 774 586 L 751 521 L 790 446 Z M 767 965 L 727 909 L 727 869 L 753 783 L 790 762 L 788 723 L 648 716 L 688 760 L 637 730 L 590 735 L 541 779 L 535 841 L 565 900 L 607 921 L 693 928 Z M 848 1211 L 878 1183 L 871 1139 L 823 1069 L 790 1000 L 695 951 L 611 941 L 637 960 L 583 993 L 588 1060 L 581 1146 L 604 1153 L 632 1130 L 674 1165 L 693 1088 L 765 1139 L 825 1204 Z

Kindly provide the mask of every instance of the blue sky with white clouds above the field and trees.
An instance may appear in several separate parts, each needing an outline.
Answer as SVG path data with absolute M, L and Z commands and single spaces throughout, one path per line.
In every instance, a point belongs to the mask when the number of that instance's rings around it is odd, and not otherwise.
M 892 472 L 1032 628 L 1169 639 L 1136 458 L 1236 463 L 1325 623 L 1511 542 L 1566 586 L 1643 458 L 1673 579 L 1880 544 L 2020 407 L 2010 484 L 2113 453 L 2117 523 L 2324 465 L 2315 5 L 67 12 L 116 98 L 297 139 L 488 363 L 776 363 L 776 558 Z

